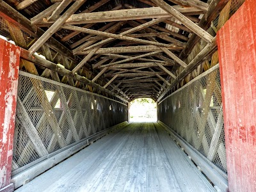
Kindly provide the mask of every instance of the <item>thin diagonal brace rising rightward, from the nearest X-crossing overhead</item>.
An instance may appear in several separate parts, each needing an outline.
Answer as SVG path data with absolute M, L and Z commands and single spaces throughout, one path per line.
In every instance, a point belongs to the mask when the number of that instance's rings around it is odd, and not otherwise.
M 159 22 L 161 22 L 163 20 L 165 20 L 165 19 L 159 18 L 159 19 L 151 20 L 149 22 L 146 22 L 145 24 L 141 24 L 140 26 L 136 26 L 135 28 L 129 29 L 128 31 L 124 31 L 123 33 L 120 33 L 120 35 L 129 35 L 129 34 L 134 33 L 136 31 L 140 31 L 142 29 L 148 28 L 149 26 L 157 24 L 157 23 L 159 23 Z M 109 42 L 112 42 L 113 40 L 114 40 L 114 38 L 108 38 L 108 39 L 103 40 L 103 41 L 101 41 L 101 42 L 99 42 L 97 44 L 94 44 L 94 45 L 91 45 L 89 47 L 86 47 L 86 49 L 92 49 L 93 47 L 96 47 L 98 45 L 108 44 Z M 85 46 L 83 46 L 83 49 L 84 48 L 85 48 Z M 82 50 L 82 47 L 81 47 L 81 49 L 76 50 L 76 52 L 81 51 L 81 50 Z

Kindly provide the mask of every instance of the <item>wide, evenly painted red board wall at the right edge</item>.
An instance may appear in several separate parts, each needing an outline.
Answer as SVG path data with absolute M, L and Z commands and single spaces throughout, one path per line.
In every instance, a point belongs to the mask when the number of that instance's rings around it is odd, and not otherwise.
M 256 6 L 247 0 L 217 34 L 228 189 L 256 191 Z

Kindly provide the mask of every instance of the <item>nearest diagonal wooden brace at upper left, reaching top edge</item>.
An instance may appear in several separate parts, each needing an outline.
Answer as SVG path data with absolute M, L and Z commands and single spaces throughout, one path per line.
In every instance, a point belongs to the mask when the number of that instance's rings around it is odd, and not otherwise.
M 74 13 L 76 12 L 79 7 L 84 4 L 86 0 L 76 1 L 68 10 L 61 15 L 61 17 L 54 22 L 54 24 L 45 31 L 44 35 L 40 36 L 40 38 L 29 48 L 30 54 L 35 53 L 51 36 L 53 33 L 58 31 L 60 26 L 65 23 L 65 21 Z

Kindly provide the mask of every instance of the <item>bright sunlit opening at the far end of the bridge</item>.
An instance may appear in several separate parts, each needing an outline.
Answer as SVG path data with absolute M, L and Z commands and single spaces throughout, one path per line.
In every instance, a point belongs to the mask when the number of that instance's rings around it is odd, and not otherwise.
M 156 122 L 156 102 L 150 98 L 134 99 L 131 102 L 129 122 Z

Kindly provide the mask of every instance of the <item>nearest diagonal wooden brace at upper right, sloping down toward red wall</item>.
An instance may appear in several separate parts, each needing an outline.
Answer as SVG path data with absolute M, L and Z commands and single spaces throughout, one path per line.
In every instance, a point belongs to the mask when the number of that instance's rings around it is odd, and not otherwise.
M 175 8 L 170 6 L 168 3 L 165 3 L 163 0 L 152 0 L 152 2 L 156 3 L 159 7 L 163 8 L 163 10 L 170 13 L 170 15 L 172 15 L 177 20 L 182 22 L 182 24 L 184 24 L 184 26 L 189 28 L 196 35 L 203 38 L 206 42 L 208 42 L 208 43 L 212 42 L 213 36 L 211 36 L 209 33 L 207 33 L 207 31 L 205 31 L 204 29 L 200 28 L 194 22 L 189 20 L 186 16 L 182 15 L 182 13 L 175 10 Z

